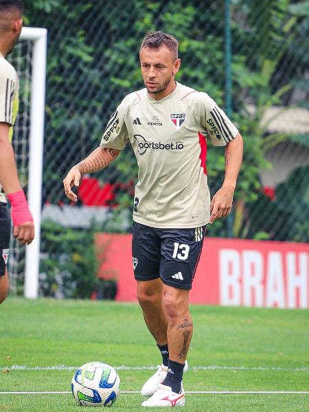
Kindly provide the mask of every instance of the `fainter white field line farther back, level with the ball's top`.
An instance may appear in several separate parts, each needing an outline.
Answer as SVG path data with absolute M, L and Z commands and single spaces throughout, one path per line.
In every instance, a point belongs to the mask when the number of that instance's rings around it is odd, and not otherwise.
M 27 365 L 11 365 L 0 367 L 0 369 L 19 370 L 19 371 L 73 371 L 78 369 L 76 366 L 54 365 L 54 366 L 27 366 Z M 156 366 L 115 366 L 117 371 L 141 371 L 155 370 Z M 240 371 L 292 371 L 292 372 L 309 372 L 309 367 L 250 367 L 250 366 L 224 366 L 224 365 L 208 365 L 208 366 L 190 366 L 191 370 L 206 371 L 206 370 L 240 370 Z

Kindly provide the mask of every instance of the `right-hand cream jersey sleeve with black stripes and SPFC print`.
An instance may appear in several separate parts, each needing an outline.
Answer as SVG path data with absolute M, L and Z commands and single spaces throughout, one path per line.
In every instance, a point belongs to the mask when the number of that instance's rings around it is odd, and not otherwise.
M 216 102 L 209 98 L 209 95 L 206 93 L 203 95 L 205 96 L 205 113 L 201 117 L 203 126 L 214 146 L 225 146 L 238 135 L 238 129 Z

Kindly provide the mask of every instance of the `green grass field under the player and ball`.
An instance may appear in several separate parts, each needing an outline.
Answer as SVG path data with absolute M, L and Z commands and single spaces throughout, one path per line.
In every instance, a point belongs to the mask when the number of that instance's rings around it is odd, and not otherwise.
M 186 391 L 309 391 L 309 311 L 192 306 Z M 136 304 L 29 301 L 0 306 L 0 410 L 80 411 L 70 391 L 83 363 L 113 365 L 122 391 L 139 391 L 160 355 Z M 145 411 L 122 393 L 115 411 Z M 161 411 L 161 408 L 152 408 Z M 188 393 L 188 412 L 308 412 L 308 393 Z

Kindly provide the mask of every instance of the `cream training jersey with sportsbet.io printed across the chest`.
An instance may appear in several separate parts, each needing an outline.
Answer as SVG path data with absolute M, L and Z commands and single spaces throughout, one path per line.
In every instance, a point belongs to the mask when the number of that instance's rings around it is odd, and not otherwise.
M 130 141 L 139 167 L 133 220 L 157 228 L 194 228 L 210 216 L 207 139 L 225 146 L 236 126 L 207 93 L 176 82 L 161 100 L 147 89 L 127 95 L 111 116 L 100 146 Z

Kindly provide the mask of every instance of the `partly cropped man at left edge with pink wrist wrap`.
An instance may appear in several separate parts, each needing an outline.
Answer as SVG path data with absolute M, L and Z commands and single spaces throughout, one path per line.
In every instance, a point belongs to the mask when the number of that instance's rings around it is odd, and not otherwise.
M 12 125 L 19 104 L 19 78 L 5 60 L 21 34 L 23 2 L 0 0 L 0 304 L 8 295 L 9 278 L 6 264 L 10 247 L 10 218 L 5 194 L 11 203 L 14 238 L 30 244 L 34 224 L 25 194 L 19 182 L 11 144 Z

